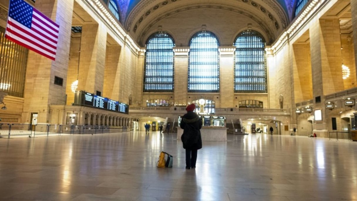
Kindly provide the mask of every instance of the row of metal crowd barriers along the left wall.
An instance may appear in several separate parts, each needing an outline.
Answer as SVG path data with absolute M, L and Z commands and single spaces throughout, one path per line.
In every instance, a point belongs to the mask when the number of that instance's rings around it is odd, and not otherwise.
M 53 125 L 53 124 L 7 124 L 0 123 L 0 137 L 29 136 L 49 134 L 97 134 L 126 132 L 126 126 L 82 126 L 82 125 Z

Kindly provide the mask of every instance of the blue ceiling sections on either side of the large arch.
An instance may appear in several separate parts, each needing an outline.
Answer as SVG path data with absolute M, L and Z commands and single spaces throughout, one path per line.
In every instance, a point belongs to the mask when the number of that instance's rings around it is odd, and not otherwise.
M 117 0 L 120 5 L 120 10 L 124 19 L 127 18 L 129 13 L 134 7 L 143 0 Z M 296 0 L 276 0 L 281 7 L 285 10 L 287 16 L 292 16 L 293 7 Z

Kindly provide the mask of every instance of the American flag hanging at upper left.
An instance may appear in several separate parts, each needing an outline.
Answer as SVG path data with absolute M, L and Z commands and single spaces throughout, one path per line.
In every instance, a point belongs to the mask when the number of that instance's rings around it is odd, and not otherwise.
M 23 0 L 10 0 L 5 37 L 55 60 L 59 25 Z

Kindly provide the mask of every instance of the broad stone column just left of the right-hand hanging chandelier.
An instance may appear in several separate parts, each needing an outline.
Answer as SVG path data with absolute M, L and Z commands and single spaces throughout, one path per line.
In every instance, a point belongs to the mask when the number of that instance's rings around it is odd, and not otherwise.
M 316 19 L 311 23 L 309 33 L 314 109 L 322 112 L 322 121 L 315 121 L 314 128 L 315 131 L 326 131 L 325 95 L 343 90 L 339 20 Z M 316 102 L 317 97 L 320 102 Z

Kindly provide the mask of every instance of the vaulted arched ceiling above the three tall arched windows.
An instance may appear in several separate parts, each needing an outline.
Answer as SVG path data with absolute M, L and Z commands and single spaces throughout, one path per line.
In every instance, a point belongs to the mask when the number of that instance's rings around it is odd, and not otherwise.
M 290 22 L 292 8 L 285 1 L 131 0 L 122 1 L 120 7 L 125 29 L 140 45 L 152 33 L 163 30 L 175 38 L 176 44 L 185 46 L 188 38 L 202 29 L 215 34 L 225 31 L 221 44 L 232 45 L 239 31 L 247 28 L 262 33 L 270 44 Z

